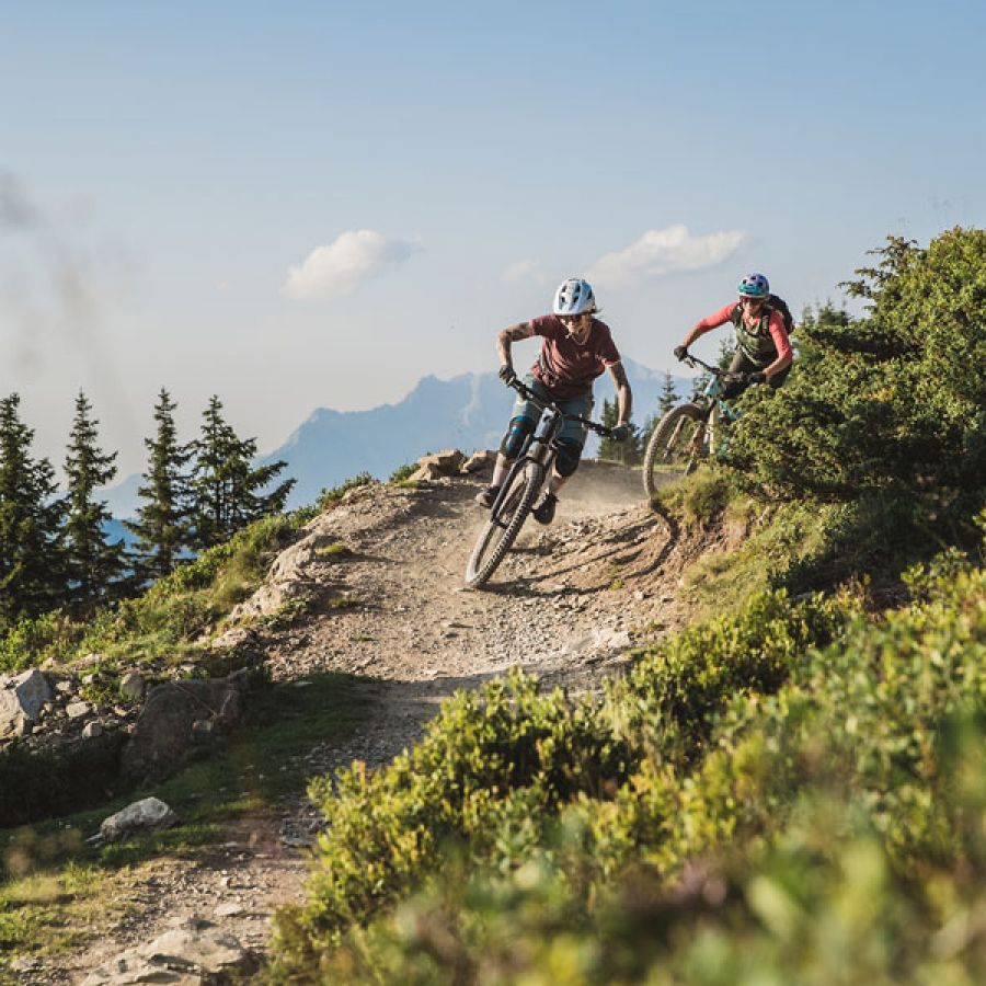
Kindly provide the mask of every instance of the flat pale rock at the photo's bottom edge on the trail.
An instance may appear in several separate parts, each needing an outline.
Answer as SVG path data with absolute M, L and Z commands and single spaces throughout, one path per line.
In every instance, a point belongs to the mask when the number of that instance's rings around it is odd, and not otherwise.
M 208 921 L 192 920 L 165 931 L 148 944 L 122 952 L 83 981 L 82 986 L 135 986 L 137 983 L 171 983 L 204 986 L 206 983 L 240 982 L 255 971 L 255 963 L 232 935 Z

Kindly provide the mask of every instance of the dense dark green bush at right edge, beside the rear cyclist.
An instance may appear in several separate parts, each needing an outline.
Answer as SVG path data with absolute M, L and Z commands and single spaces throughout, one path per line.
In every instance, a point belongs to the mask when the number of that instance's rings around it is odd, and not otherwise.
M 806 313 L 796 371 L 750 397 L 730 456 L 775 496 L 879 500 L 880 537 L 967 541 L 986 496 L 986 231 L 875 253 L 848 285 L 867 313 Z

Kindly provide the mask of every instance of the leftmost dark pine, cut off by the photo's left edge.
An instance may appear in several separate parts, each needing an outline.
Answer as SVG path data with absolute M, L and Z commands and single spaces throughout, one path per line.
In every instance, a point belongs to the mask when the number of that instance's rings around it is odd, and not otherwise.
M 34 431 L 21 398 L 0 400 L 0 621 L 36 617 L 65 601 L 65 555 L 55 470 L 31 458 Z

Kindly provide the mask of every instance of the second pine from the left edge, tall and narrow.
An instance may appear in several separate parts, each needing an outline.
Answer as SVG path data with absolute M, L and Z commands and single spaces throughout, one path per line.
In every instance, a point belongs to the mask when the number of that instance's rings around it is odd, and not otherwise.
M 116 475 L 116 452 L 104 455 L 96 444 L 98 421 L 81 391 L 76 398 L 76 417 L 65 459 L 68 477 L 68 516 L 65 523 L 69 601 L 77 616 L 119 589 L 125 567 L 124 542 L 110 543 L 105 525 L 112 519 L 105 501 L 94 500 L 98 489 Z

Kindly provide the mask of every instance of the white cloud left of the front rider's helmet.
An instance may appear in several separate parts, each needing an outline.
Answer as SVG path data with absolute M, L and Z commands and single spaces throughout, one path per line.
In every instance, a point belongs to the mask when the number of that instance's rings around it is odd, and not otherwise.
M 347 230 L 290 267 L 282 291 L 295 301 L 348 295 L 364 280 L 406 263 L 415 249 L 372 229 Z

